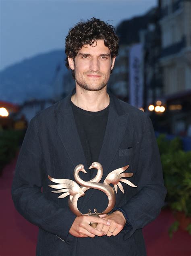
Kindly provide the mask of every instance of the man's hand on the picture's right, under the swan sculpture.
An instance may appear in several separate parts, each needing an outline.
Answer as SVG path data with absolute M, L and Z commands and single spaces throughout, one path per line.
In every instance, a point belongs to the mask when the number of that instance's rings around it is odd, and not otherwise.
M 100 217 L 111 223 L 110 226 L 99 223 L 96 227 L 96 229 L 98 229 L 99 231 L 104 231 L 107 236 L 117 235 L 123 229 L 126 223 L 126 219 L 123 216 L 122 212 L 118 210 L 106 215 L 106 217 L 102 215 L 100 215 Z

